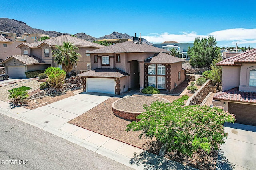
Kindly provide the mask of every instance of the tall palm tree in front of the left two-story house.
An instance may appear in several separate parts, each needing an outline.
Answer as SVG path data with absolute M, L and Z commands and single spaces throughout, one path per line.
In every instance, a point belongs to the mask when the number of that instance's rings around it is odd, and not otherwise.
M 54 53 L 53 57 L 55 57 L 54 61 L 58 65 L 62 65 L 62 69 L 67 74 L 72 70 L 74 63 L 77 64 L 79 57 L 81 57 L 75 50 L 79 50 L 79 48 L 70 42 L 63 42 L 63 46 L 56 45 L 56 50 L 52 51 Z

